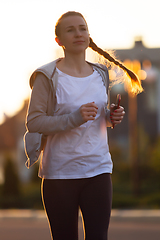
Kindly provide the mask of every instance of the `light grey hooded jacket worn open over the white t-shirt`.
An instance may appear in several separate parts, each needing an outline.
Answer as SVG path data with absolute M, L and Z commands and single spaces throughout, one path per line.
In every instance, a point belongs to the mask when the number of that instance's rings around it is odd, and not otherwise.
M 38 68 L 30 77 L 32 94 L 26 119 L 28 132 L 40 133 L 43 136 L 54 135 L 62 131 L 74 129 L 85 123 L 80 114 L 80 109 L 69 114 L 54 116 L 58 82 L 58 72 L 56 71 L 57 61 L 60 61 L 60 59 Z M 102 64 L 89 64 L 101 75 L 108 94 L 109 76 L 107 67 Z M 110 111 L 107 109 L 107 106 L 105 113 L 106 126 L 111 127 Z M 31 141 L 28 141 L 28 147 L 30 148 L 31 145 L 37 144 L 39 138 L 39 134 L 35 134 L 34 137 L 31 136 Z M 34 148 L 31 146 L 31 149 Z M 39 150 L 40 146 L 38 147 Z M 36 161 L 37 158 L 35 158 L 33 151 L 33 155 L 31 154 L 26 166 L 29 168 Z

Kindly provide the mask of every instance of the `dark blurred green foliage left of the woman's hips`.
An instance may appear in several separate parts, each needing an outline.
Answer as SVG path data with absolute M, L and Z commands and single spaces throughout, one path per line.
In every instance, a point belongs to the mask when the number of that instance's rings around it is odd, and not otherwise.
M 16 163 L 7 156 L 4 164 L 5 181 L 0 186 L 0 208 L 42 209 L 40 194 L 41 180 L 37 176 L 37 166 L 31 182 L 21 183 L 16 171 Z

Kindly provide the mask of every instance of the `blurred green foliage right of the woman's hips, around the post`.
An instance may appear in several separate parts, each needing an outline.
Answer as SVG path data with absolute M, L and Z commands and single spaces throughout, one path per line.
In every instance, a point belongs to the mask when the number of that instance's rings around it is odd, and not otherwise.
M 138 195 L 132 190 L 132 166 L 124 157 L 124 149 L 115 144 L 110 148 L 114 162 L 113 208 L 160 207 L 160 138 L 152 142 L 139 128 L 138 144 Z

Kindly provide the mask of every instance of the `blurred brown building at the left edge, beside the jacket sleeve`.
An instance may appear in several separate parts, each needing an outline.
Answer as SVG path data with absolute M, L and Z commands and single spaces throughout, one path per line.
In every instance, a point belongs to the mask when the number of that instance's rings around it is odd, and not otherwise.
M 4 181 L 3 167 L 8 155 L 15 162 L 20 179 L 27 181 L 29 178 L 29 171 L 24 165 L 26 156 L 23 145 L 27 107 L 28 100 L 24 102 L 22 109 L 15 116 L 6 116 L 4 123 L 0 125 L 0 183 Z

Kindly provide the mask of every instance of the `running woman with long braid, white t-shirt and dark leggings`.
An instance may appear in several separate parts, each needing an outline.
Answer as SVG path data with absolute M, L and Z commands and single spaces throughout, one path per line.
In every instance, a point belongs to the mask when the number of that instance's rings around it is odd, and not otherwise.
M 31 76 L 27 116 L 28 131 L 48 136 L 39 169 L 43 204 L 52 239 L 78 239 L 80 209 L 85 239 L 106 240 L 112 204 L 106 125 L 121 123 L 125 112 L 121 106 L 115 110 L 114 104 L 106 108 L 107 67 L 87 62 L 86 49 L 91 47 L 127 71 L 137 91 L 142 90 L 141 84 L 134 73 L 94 44 L 80 13 L 62 15 L 55 34 L 64 58 Z M 49 116 L 48 106 L 53 113 Z

